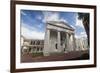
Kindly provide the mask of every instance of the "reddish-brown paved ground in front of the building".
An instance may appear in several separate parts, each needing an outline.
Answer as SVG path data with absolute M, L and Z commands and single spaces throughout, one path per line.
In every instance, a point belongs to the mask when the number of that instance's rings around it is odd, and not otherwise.
M 73 51 L 62 55 L 32 57 L 32 54 L 21 56 L 21 62 L 47 62 L 89 59 L 88 51 Z

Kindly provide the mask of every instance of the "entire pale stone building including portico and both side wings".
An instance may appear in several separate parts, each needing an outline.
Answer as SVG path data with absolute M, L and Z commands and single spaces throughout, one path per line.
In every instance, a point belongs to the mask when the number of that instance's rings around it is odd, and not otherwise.
M 46 23 L 44 39 L 27 39 L 21 36 L 22 53 L 39 53 L 50 56 L 57 53 L 88 50 L 87 39 L 75 38 L 75 30 L 62 21 Z

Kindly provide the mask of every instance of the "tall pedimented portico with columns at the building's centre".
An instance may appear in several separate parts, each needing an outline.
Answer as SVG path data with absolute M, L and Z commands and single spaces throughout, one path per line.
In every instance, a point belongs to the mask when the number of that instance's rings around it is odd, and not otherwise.
M 74 29 L 62 21 L 46 23 L 44 56 L 51 53 L 67 53 L 75 50 Z

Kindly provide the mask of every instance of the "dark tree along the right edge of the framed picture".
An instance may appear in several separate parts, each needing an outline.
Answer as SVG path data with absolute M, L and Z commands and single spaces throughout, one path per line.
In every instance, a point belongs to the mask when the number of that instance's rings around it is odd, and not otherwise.
M 83 26 L 85 28 L 86 34 L 87 34 L 87 38 L 88 38 L 88 45 L 90 45 L 89 43 L 89 13 L 78 13 L 78 19 L 82 19 L 83 22 Z

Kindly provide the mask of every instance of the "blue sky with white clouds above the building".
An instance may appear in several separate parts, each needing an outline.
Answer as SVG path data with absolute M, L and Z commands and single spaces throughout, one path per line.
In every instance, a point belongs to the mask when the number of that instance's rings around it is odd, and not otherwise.
M 75 37 L 86 37 L 82 20 L 76 12 L 21 10 L 21 35 L 28 39 L 44 39 L 46 21 L 63 21 L 75 29 Z

